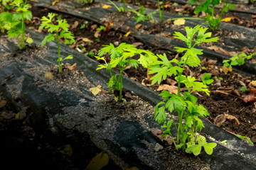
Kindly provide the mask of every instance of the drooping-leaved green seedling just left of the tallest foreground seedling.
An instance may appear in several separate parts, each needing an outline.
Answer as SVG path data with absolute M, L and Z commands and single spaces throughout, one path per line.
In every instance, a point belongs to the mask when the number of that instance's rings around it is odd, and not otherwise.
M 105 55 L 107 53 L 110 55 L 110 62 L 107 63 L 105 60 Z M 138 60 L 134 60 L 132 57 L 135 55 L 139 55 Z M 132 67 L 137 69 L 138 64 L 142 64 L 143 67 L 147 67 L 149 62 L 153 62 L 156 60 L 156 56 L 149 52 L 148 50 L 140 50 L 134 47 L 134 45 L 129 45 L 126 43 L 121 43 L 118 47 L 114 47 L 112 43 L 110 45 L 104 45 L 102 49 L 99 51 L 98 55 L 95 56 L 97 60 L 103 60 L 105 64 L 100 64 L 98 69 L 107 69 L 107 72 L 110 72 L 111 78 L 107 83 L 107 86 L 110 87 L 109 91 L 117 91 L 118 95 L 114 96 L 116 101 L 121 101 L 122 96 L 122 73 L 124 69 L 130 64 Z M 118 67 L 119 76 L 117 78 L 116 74 L 112 74 L 112 68 Z

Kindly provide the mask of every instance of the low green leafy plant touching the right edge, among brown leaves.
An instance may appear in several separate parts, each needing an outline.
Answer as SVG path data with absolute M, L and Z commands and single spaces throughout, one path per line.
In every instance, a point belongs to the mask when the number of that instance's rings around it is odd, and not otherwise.
M 256 52 L 251 55 L 246 55 L 245 52 L 241 52 L 239 55 L 235 54 L 230 60 L 223 60 L 223 66 L 228 67 L 229 69 L 232 69 L 232 66 L 241 66 L 245 64 L 245 60 L 250 60 L 253 55 L 256 55 Z

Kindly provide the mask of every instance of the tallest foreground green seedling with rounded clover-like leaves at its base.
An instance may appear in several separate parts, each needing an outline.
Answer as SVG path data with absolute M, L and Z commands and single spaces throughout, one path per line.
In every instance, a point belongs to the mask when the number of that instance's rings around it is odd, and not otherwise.
M 164 98 L 164 101 L 158 103 L 155 107 L 155 120 L 161 124 L 164 123 L 161 128 L 166 128 L 163 135 L 170 135 L 174 141 L 176 149 L 185 149 L 187 153 L 193 153 L 195 155 L 200 154 L 201 149 L 204 148 L 207 154 L 213 153 L 213 148 L 216 143 L 206 142 L 206 137 L 198 135 L 197 131 L 204 128 L 203 122 L 198 117 L 206 117 L 209 115 L 206 108 L 202 105 L 197 105 L 198 98 L 193 96 L 193 91 L 202 91 L 207 95 L 209 94 L 208 86 L 200 81 L 196 81 L 195 77 L 183 75 L 183 70 L 186 65 L 190 67 L 198 67 L 201 65 L 201 60 L 198 55 L 203 55 L 203 50 L 196 49 L 195 45 L 202 42 L 217 42 L 219 38 L 210 38 L 211 33 L 206 33 L 208 28 L 196 26 L 195 28 L 186 27 L 186 36 L 175 32 L 175 36 L 179 40 L 186 42 L 188 47 L 174 47 L 176 52 L 185 52 L 180 60 L 172 59 L 168 60 L 166 55 L 157 55 L 159 60 L 149 63 L 149 74 L 154 74 L 151 77 L 152 84 L 156 82 L 161 83 L 167 77 L 174 76 L 178 81 L 178 93 L 170 94 L 169 91 L 162 91 L 160 96 Z M 194 36 L 197 33 L 196 39 Z M 181 94 L 181 84 L 184 84 L 188 91 Z M 171 120 L 167 120 L 166 109 L 171 116 Z M 174 120 L 173 113 L 178 113 L 178 125 Z M 185 123 L 183 123 L 183 119 Z M 174 140 L 171 134 L 171 126 L 174 125 L 177 132 L 176 140 Z

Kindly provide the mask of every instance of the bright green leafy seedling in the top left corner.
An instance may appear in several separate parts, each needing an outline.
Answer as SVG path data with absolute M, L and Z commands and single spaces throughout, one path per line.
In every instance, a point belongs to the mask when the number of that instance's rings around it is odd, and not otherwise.
M 11 3 L 11 6 L 14 6 L 16 9 L 15 13 L 3 13 L 1 14 L 1 28 L 2 31 L 8 30 L 8 38 L 17 38 L 18 47 L 23 49 L 25 47 L 25 41 L 32 43 L 31 38 L 25 37 L 25 20 L 31 20 L 32 13 L 28 10 L 29 4 L 26 4 L 26 1 L 23 0 L 14 0 Z

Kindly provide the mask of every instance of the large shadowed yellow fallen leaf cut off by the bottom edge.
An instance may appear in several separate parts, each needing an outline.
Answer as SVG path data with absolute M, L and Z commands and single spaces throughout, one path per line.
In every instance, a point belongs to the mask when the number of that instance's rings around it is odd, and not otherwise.
M 106 153 L 97 154 L 90 163 L 86 166 L 85 170 L 100 170 L 109 162 L 109 156 Z

